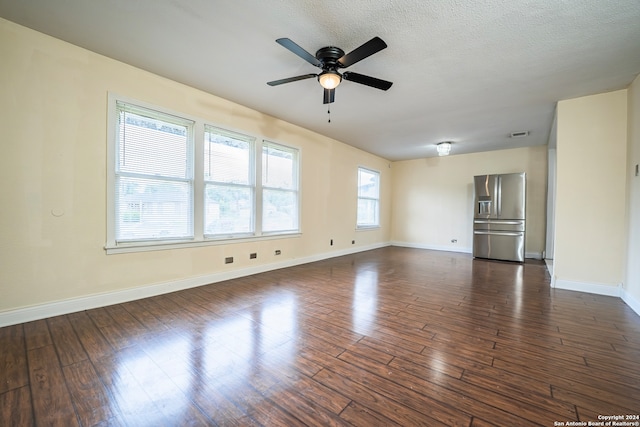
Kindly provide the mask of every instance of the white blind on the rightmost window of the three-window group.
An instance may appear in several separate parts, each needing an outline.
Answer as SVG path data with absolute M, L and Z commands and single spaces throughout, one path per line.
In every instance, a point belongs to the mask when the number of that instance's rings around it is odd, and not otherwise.
M 298 150 L 262 143 L 262 231 L 299 228 Z

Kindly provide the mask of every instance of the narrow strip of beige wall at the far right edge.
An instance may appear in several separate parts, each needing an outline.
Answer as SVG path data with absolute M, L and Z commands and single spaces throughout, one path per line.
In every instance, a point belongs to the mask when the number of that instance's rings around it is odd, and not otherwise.
M 628 302 L 635 304 L 640 314 L 640 176 L 635 175 L 640 164 L 640 76 L 628 89 L 628 145 L 627 145 L 627 256 L 625 292 Z M 640 167 L 640 166 L 638 166 Z

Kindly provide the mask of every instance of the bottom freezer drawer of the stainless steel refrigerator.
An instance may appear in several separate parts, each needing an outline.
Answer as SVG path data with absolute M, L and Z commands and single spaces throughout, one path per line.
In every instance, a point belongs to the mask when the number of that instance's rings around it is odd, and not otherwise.
M 524 262 L 524 233 L 518 231 L 474 231 L 473 256 Z

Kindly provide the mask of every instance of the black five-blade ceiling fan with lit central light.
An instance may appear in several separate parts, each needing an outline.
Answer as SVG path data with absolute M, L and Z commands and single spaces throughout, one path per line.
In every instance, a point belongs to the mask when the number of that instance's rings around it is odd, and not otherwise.
M 316 55 L 313 56 L 288 38 L 277 39 L 276 42 L 284 48 L 289 49 L 311 65 L 322 69 L 322 72 L 320 74 L 303 74 L 301 76 L 289 77 L 287 79 L 274 80 L 267 82 L 269 86 L 277 86 L 284 83 L 291 83 L 298 80 L 316 77 L 320 85 L 324 88 L 323 103 L 330 104 L 335 100 L 336 87 L 343 79 L 381 90 L 387 90 L 393 84 L 392 82 L 365 76 L 364 74 L 358 74 L 350 71 L 345 71 L 344 73 L 338 72 L 338 69 L 347 68 L 386 48 L 387 44 L 380 37 L 372 38 L 346 55 L 339 47 L 327 46 L 318 49 Z

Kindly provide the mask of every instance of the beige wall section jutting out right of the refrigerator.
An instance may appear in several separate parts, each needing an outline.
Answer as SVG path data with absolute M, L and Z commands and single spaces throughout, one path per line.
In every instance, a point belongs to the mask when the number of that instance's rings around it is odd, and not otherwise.
M 558 103 L 554 276 L 618 286 L 626 254 L 627 91 Z

